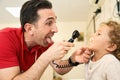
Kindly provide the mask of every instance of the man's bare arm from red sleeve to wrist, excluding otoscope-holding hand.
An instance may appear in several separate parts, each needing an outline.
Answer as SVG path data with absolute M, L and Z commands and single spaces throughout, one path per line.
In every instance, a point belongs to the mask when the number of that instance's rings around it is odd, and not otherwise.
M 0 69 L 0 80 L 39 80 L 49 62 L 49 58 L 43 55 L 23 73 L 20 73 L 19 66 Z

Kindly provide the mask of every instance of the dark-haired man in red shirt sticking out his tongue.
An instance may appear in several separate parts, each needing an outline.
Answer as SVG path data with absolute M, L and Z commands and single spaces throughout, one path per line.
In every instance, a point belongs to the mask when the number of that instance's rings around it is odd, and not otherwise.
M 0 31 L 0 80 L 39 80 L 49 64 L 59 74 L 65 74 L 73 66 L 88 61 L 90 55 L 84 51 L 86 48 L 78 49 L 69 60 L 60 60 L 74 45 L 52 41 L 58 30 L 49 1 L 25 2 L 20 21 L 22 28 Z

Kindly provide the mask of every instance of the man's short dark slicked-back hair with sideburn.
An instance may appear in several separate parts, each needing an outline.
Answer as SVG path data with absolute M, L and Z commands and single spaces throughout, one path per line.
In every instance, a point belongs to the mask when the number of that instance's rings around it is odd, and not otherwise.
M 52 3 L 48 0 L 29 0 L 25 2 L 20 11 L 20 22 L 22 30 L 25 31 L 25 23 L 34 23 L 40 16 L 38 16 L 37 11 L 39 9 L 51 9 Z

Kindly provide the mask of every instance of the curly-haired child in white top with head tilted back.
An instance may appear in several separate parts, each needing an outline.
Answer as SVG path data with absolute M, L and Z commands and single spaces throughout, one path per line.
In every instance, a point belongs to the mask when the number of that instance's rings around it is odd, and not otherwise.
M 94 55 L 86 64 L 86 80 L 120 80 L 120 24 L 102 23 L 89 47 Z

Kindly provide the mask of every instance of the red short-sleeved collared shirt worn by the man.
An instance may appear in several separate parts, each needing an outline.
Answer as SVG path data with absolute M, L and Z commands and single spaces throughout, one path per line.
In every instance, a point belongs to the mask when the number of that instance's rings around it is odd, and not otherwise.
M 6 28 L 0 30 L 0 69 L 20 66 L 26 71 L 48 47 L 34 46 L 28 50 L 21 28 Z

